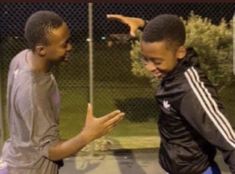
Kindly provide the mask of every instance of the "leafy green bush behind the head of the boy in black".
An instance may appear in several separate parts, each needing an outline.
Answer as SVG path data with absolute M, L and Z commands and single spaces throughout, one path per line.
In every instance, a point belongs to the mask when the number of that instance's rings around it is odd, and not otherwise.
M 221 20 L 215 25 L 208 18 L 202 18 L 193 12 L 187 20 L 181 18 L 186 28 L 186 46 L 193 47 L 199 55 L 202 69 L 215 86 L 224 87 L 232 81 L 232 21 Z M 138 33 L 140 38 L 141 33 Z M 132 72 L 136 76 L 156 80 L 145 70 L 139 60 L 140 42 L 132 43 L 130 52 Z

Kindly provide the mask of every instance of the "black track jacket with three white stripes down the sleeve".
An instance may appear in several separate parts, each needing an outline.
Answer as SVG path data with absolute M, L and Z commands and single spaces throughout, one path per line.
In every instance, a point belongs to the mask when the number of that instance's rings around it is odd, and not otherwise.
M 160 164 L 170 174 L 201 174 L 218 148 L 235 174 L 235 134 L 197 59 L 189 48 L 157 90 Z

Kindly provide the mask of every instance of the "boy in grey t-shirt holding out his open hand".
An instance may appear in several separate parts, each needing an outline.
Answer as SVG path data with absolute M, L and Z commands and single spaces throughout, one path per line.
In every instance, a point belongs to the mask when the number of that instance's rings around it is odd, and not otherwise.
M 83 130 L 62 141 L 58 130 L 60 95 L 50 70 L 68 60 L 70 31 L 56 13 L 38 11 L 26 22 L 25 38 L 29 49 L 13 58 L 8 73 L 10 138 L 2 158 L 10 174 L 57 174 L 58 161 L 108 133 L 124 113 L 116 110 L 95 118 L 89 104 Z

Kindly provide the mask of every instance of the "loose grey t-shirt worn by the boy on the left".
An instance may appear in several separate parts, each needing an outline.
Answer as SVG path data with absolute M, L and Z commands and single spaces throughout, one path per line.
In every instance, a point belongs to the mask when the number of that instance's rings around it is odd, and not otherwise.
M 2 158 L 14 174 L 57 174 L 58 165 L 48 159 L 48 148 L 59 141 L 59 90 L 52 73 L 29 69 L 28 53 L 23 50 L 17 54 L 9 68 L 10 138 Z

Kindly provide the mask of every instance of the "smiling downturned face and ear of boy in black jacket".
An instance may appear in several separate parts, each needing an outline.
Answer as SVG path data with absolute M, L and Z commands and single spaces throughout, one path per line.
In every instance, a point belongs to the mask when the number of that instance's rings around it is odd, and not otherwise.
M 142 61 L 145 68 L 157 78 L 163 78 L 171 72 L 179 59 L 184 58 L 183 46 L 170 48 L 166 41 L 141 42 Z

